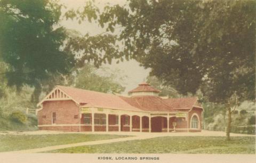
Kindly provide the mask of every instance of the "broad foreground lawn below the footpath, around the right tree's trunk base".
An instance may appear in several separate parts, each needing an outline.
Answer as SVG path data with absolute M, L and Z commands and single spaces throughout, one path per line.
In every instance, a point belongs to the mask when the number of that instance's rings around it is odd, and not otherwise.
M 87 145 L 48 152 L 58 153 L 232 153 L 255 154 L 255 137 L 156 137 L 102 145 Z

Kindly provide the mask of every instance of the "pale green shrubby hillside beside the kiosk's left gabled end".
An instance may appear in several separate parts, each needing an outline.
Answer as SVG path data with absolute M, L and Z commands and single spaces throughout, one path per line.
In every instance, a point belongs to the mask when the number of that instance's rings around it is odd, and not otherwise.
M 35 107 L 30 102 L 33 89 L 25 87 L 17 93 L 15 88 L 6 87 L 4 91 L 5 96 L 0 99 L 0 130 L 36 130 L 37 117 L 35 115 Z

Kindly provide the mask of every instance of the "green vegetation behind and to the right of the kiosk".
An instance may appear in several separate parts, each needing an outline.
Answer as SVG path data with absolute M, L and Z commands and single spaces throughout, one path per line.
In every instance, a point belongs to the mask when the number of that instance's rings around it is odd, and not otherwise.
M 149 76 L 147 82 L 159 89 L 160 96 L 168 97 L 189 97 L 179 94 L 174 87 L 165 86 L 164 81 L 159 80 L 155 76 Z M 203 112 L 203 129 L 210 131 L 226 131 L 227 111 L 225 105 L 209 102 L 202 94 L 197 91 L 195 96 L 198 97 L 204 108 Z M 233 121 L 231 123 L 231 132 L 243 134 L 255 134 L 255 103 L 253 101 L 244 101 L 233 112 Z M 239 127 L 238 127 L 239 126 Z

